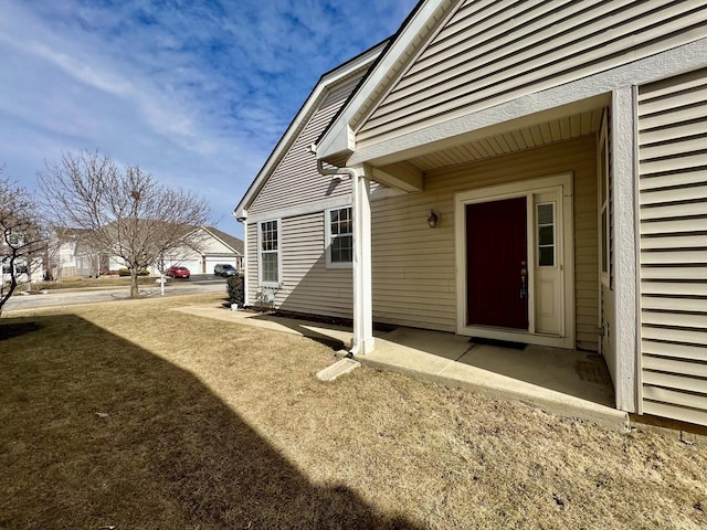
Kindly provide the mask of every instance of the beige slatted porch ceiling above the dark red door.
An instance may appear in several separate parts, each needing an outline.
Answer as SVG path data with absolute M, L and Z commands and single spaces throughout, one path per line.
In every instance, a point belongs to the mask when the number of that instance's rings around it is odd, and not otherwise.
M 408 160 L 419 171 L 473 162 L 511 152 L 572 140 L 599 130 L 602 108 L 502 132 Z

